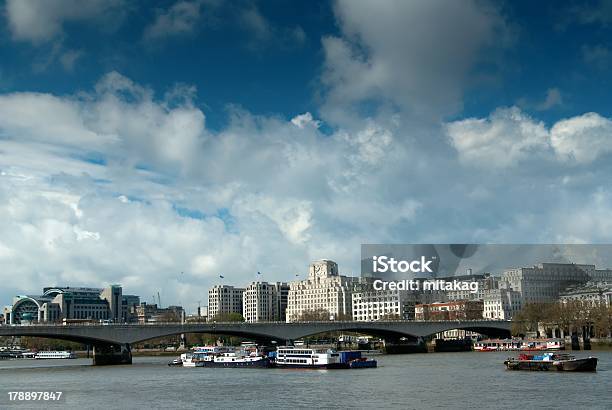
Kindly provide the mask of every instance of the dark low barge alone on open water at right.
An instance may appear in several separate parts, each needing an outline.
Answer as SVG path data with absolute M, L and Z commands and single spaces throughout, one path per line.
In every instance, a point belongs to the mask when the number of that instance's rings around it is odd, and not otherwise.
M 597 358 L 589 356 L 576 359 L 569 354 L 558 353 L 520 354 L 518 358 L 508 358 L 504 364 L 508 370 L 594 372 L 597 369 Z

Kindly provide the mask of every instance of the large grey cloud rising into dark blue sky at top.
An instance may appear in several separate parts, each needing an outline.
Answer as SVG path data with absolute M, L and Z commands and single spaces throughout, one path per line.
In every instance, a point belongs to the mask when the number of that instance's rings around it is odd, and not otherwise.
M 323 39 L 322 81 L 336 120 L 380 102 L 420 116 L 454 113 L 482 51 L 509 38 L 486 2 L 339 1 L 335 13 L 342 35 Z

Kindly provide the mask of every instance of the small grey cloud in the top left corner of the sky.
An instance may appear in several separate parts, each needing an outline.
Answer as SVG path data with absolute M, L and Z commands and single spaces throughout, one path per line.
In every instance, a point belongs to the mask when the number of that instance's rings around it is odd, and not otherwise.
M 64 23 L 116 18 L 122 4 L 122 0 L 7 0 L 5 13 L 15 40 L 39 44 L 61 36 Z

